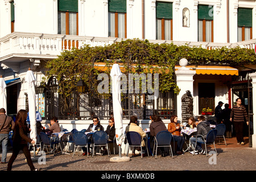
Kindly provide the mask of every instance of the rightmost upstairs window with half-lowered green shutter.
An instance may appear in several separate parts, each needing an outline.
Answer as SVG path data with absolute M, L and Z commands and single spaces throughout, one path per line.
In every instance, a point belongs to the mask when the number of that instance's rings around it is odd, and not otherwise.
M 253 39 L 253 9 L 237 10 L 238 42 Z

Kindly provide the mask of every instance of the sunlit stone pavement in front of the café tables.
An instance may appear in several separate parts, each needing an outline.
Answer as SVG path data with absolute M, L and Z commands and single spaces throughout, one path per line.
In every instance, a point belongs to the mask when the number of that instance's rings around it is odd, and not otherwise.
M 250 148 L 240 146 L 231 142 L 232 139 L 228 139 L 228 146 L 225 146 L 223 141 L 218 144 L 216 141 L 216 148 L 218 155 L 192 155 L 185 152 L 184 155 L 174 155 L 174 158 L 170 156 L 158 158 L 152 158 L 152 156 L 144 157 L 141 156 L 131 157 L 129 162 L 110 162 L 110 158 L 119 155 L 96 155 L 94 157 L 78 155 L 76 152 L 74 158 L 72 154 L 61 155 L 59 152 L 57 155 L 49 156 L 46 154 L 46 160 L 39 160 L 34 162 L 36 168 L 42 168 L 42 171 L 84 171 L 83 174 L 90 174 L 97 172 L 97 177 L 105 175 L 106 172 L 145 172 L 157 175 L 158 171 L 254 171 L 256 172 L 256 148 Z M 212 146 L 208 146 L 209 151 L 214 151 Z M 11 152 L 11 150 L 9 151 Z M 7 160 L 10 159 L 11 153 L 7 155 Z M 123 152 L 122 152 L 122 156 Z M 43 163 L 43 164 L 39 164 Z M 6 171 L 7 164 L 0 165 L 0 172 Z M 13 171 L 29 171 L 30 168 L 25 161 L 25 157 L 20 152 L 18 158 L 13 164 Z M 156 172 L 156 173 L 155 173 Z M 162 174 L 162 173 L 161 173 Z M 162 175 L 160 175 L 162 176 Z M 107 177 L 107 176 L 103 176 Z M 137 176 L 138 177 L 138 176 Z M 139 176 L 142 177 L 142 176 Z

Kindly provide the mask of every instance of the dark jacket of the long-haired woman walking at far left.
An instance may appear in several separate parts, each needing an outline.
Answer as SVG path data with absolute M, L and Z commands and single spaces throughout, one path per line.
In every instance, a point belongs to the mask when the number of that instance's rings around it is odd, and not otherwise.
M 32 139 L 28 138 L 27 135 L 30 133 L 28 130 L 27 123 L 22 125 L 22 123 L 16 123 L 13 132 L 13 144 L 27 144 L 31 143 Z

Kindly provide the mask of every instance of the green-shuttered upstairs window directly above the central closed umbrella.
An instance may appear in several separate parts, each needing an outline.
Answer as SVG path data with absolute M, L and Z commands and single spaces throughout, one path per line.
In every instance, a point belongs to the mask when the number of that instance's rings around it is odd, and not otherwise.
M 109 36 L 127 38 L 126 0 L 109 0 Z

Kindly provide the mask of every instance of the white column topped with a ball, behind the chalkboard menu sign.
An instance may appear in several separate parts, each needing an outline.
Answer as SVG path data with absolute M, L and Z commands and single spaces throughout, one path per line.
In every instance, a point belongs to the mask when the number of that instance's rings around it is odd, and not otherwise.
M 181 121 L 181 97 L 187 90 L 191 92 L 193 97 L 193 76 L 196 74 L 195 70 L 186 68 L 188 60 L 183 58 L 179 62 L 181 68 L 175 71 L 177 86 L 180 88 L 180 93 L 177 95 L 177 118 Z

